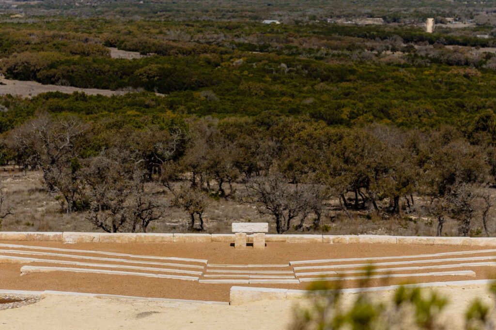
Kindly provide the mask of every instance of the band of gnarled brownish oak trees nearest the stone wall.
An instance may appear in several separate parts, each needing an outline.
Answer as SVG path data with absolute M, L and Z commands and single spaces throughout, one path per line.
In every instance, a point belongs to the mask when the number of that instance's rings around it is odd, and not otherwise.
M 24 170 L 41 169 L 61 212 L 88 210 L 87 220 L 109 232 L 146 232 L 166 207 L 182 208 L 190 230 L 195 221 L 202 230 L 205 204 L 216 198 L 253 204 L 279 233 L 310 219 L 318 230 L 325 202 L 335 198 L 349 217 L 352 210 L 365 210 L 364 221 L 424 213 L 438 235 L 449 217 L 467 236 L 475 217 L 489 234 L 495 127 L 490 112 L 465 134 L 451 126 L 332 127 L 270 114 L 171 115 L 133 129 L 44 113 L 7 132 L 4 155 Z

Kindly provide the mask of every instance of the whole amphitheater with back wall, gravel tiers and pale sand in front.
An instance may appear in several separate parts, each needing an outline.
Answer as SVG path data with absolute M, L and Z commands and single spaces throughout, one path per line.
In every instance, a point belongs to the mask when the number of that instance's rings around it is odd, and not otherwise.
M 163 329 L 164 320 L 172 329 L 218 329 L 243 326 L 247 317 L 253 329 L 285 329 L 314 282 L 377 297 L 409 283 L 463 305 L 473 296 L 490 299 L 486 289 L 496 277 L 496 238 L 266 235 L 263 249 L 249 246 L 251 235 L 245 249 L 234 240 L 0 232 L 0 298 L 36 298 L 0 311 L 0 329 L 78 329 L 87 322 L 85 329 Z

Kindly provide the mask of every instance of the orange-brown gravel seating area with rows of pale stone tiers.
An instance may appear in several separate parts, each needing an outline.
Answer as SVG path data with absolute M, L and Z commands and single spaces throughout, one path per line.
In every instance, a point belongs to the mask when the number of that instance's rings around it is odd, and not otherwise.
M 370 270 L 370 267 L 372 271 Z M 496 249 L 466 245 L 268 242 L 0 242 L 0 289 L 229 301 L 233 285 L 308 289 L 496 278 Z M 370 273 L 369 273 L 370 272 Z

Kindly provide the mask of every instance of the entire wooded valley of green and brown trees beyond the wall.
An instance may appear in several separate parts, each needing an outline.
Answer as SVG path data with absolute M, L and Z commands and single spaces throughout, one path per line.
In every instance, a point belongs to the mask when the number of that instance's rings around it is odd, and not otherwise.
M 127 94 L 2 95 L 1 164 L 41 171 L 61 216 L 108 232 L 146 232 L 171 209 L 205 230 L 222 200 L 278 233 L 420 219 L 493 235 L 494 11 L 397 1 L 366 15 L 384 24 L 336 24 L 364 15 L 317 2 L 144 1 L 132 17 L 126 1 L 20 4 L 26 16 L 1 16 L 4 79 Z M 262 24 L 265 7 L 283 24 Z

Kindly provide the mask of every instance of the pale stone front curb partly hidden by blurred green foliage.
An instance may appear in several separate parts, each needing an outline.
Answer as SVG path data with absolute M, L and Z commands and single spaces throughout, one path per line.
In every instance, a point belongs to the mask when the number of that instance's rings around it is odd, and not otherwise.
M 447 281 L 447 282 L 428 282 L 406 285 L 390 285 L 390 286 L 375 286 L 363 288 L 350 288 L 342 289 L 341 293 L 361 293 L 361 292 L 375 292 L 375 291 L 388 291 L 396 290 L 400 286 L 404 287 L 459 287 L 468 285 L 489 285 L 493 283 L 493 279 L 475 279 L 464 281 Z M 262 300 L 297 300 L 309 299 L 312 296 L 323 295 L 334 292 L 328 291 L 309 291 L 309 290 L 295 290 L 295 289 L 275 289 L 266 287 L 249 287 L 249 286 L 232 286 L 230 290 L 230 303 L 231 305 L 243 305 L 250 302 Z

